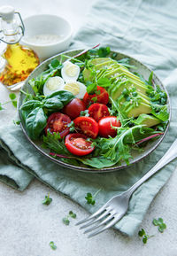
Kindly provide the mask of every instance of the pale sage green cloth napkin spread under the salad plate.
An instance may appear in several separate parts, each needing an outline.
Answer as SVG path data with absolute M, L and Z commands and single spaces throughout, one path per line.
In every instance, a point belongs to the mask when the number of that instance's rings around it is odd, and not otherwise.
M 158 162 L 177 136 L 176 5 L 173 0 L 96 1 L 89 12 L 87 23 L 75 36 L 72 46 L 77 49 L 96 43 L 111 46 L 113 50 L 139 59 L 165 81 L 171 97 L 172 120 L 158 149 L 127 169 L 108 174 L 86 174 L 60 167 L 45 159 L 28 143 L 19 126 L 1 127 L 2 182 L 24 190 L 35 176 L 93 213 L 112 196 L 127 190 Z M 174 160 L 135 190 L 127 214 L 115 225 L 116 229 L 128 236 L 135 233 L 151 201 L 173 173 L 176 163 Z M 96 205 L 89 206 L 85 196 L 87 192 L 94 194 L 97 190 L 100 192 L 96 196 Z

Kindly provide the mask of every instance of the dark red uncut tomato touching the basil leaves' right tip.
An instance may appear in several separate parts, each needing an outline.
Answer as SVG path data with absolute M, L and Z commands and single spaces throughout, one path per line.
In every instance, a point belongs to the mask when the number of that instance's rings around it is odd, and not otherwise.
M 63 112 L 67 114 L 72 120 L 80 116 L 80 112 L 86 109 L 80 98 L 73 98 L 70 103 L 65 105 Z

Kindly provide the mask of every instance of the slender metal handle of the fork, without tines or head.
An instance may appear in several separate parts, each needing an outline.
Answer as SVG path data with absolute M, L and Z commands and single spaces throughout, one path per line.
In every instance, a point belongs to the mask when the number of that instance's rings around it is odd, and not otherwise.
M 127 190 L 127 194 L 131 196 L 132 193 L 140 185 L 142 185 L 143 182 L 148 180 L 152 175 L 156 174 L 159 169 L 161 169 L 162 167 L 165 167 L 165 165 L 167 165 L 176 157 L 177 157 L 177 139 L 175 139 L 171 147 L 168 149 L 168 151 L 165 152 L 165 155 L 158 161 L 158 163 L 154 167 L 152 167 L 147 174 L 142 176 L 142 178 L 138 182 L 135 182 L 135 184 Z

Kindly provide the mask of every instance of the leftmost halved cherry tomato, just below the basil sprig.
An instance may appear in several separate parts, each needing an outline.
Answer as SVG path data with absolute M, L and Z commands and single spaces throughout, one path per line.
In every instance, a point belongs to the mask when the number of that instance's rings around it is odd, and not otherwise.
M 66 136 L 69 133 L 67 125 L 71 122 L 71 119 L 61 112 L 53 112 L 47 120 L 47 126 L 45 133 L 59 133 L 61 137 Z

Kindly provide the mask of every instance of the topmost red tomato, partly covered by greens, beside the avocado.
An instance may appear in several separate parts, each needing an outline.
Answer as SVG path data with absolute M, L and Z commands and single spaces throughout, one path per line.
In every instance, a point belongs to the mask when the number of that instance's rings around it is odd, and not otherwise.
M 108 92 L 101 86 L 97 86 L 97 93 L 95 94 L 88 94 L 85 93 L 83 97 L 83 103 L 88 106 L 90 103 L 102 103 L 107 105 L 109 102 L 109 94 Z

